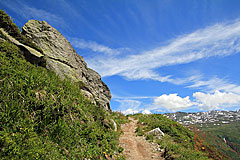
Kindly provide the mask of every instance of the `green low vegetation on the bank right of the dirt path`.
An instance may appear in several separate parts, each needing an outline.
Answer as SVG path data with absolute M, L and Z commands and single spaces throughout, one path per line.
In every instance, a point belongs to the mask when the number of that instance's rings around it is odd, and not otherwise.
M 139 120 L 136 129 L 137 135 L 145 135 L 148 131 L 158 127 L 165 133 L 161 139 L 154 136 L 146 136 L 146 139 L 158 143 L 165 150 L 164 157 L 167 159 L 204 160 L 215 157 L 224 159 L 206 143 L 196 148 L 195 134 L 192 131 L 161 114 L 135 114 L 133 117 Z M 198 138 L 198 141 L 201 139 Z M 213 152 L 215 157 L 212 157 Z

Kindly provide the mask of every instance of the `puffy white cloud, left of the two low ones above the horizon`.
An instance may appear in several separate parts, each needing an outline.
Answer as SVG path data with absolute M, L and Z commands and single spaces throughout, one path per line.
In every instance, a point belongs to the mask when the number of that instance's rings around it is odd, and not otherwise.
M 169 94 L 169 95 L 163 94 L 155 98 L 154 105 L 155 107 L 159 107 L 159 108 L 164 107 L 171 111 L 179 111 L 179 110 L 189 108 L 195 105 L 195 103 L 189 99 L 189 96 L 182 98 L 175 93 L 175 94 Z

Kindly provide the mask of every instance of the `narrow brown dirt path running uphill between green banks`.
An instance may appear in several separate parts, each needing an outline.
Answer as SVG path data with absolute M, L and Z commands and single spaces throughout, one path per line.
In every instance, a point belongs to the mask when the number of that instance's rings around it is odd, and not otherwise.
M 121 126 L 124 134 L 120 137 L 120 145 L 127 160 L 163 159 L 161 153 L 154 150 L 154 145 L 142 136 L 136 136 L 137 120 L 129 118 L 130 123 Z

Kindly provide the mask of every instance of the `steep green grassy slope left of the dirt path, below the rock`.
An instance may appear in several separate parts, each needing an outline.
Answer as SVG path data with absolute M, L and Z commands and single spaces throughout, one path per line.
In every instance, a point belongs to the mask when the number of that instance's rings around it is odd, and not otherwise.
M 60 80 L 22 55 L 15 45 L 0 41 L 1 159 L 112 156 L 119 134 L 110 118 L 118 116 L 85 99 L 79 84 Z

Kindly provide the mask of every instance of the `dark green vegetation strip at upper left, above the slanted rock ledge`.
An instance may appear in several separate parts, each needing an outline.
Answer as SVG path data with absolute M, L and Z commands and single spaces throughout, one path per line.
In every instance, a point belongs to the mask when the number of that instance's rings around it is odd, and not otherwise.
M 16 38 L 16 40 L 22 44 L 25 44 L 43 53 L 42 50 L 32 42 L 31 39 L 28 39 L 21 34 L 17 25 L 12 22 L 11 18 L 3 10 L 0 10 L 0 28 L 3 28 L 6 32 L 8 32 L 9 35 Z M 3 35 L 0 36 L 4 38 Z

